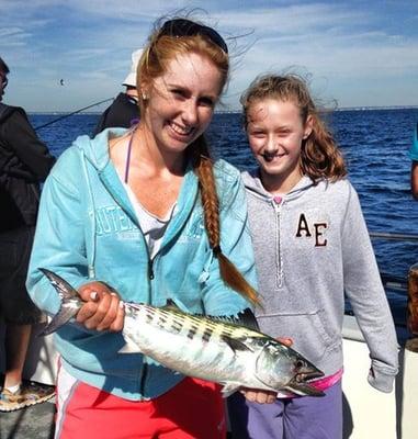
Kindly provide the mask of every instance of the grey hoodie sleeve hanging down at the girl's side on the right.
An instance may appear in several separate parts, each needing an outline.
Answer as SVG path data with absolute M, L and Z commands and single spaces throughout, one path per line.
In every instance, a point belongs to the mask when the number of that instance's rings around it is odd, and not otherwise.
M 395 325 L 359 198 L 351 184 L 342 227 L 344 292 L 369 347 L 372 364 L 368 380 L 373 387 L 391 392 L 398 371 Z

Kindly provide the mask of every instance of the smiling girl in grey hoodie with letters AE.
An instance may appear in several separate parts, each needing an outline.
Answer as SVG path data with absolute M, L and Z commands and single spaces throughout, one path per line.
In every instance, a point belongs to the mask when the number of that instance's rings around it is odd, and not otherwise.
M 264 76 L 241 98 L 258 169 L 244 173 L 263 308 L 261 330 L 289 336 L 325 372 L 324 397 L 229 401 L 235 438 L 342 436 L 344 293 L 372 359 L 369 382 L 391 392 L 397 341 L 359 199 L 331 134 L 298 77 Z

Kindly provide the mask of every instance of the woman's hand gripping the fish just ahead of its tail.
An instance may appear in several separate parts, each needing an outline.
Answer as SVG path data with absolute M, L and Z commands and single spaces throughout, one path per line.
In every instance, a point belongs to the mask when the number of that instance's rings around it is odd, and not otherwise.
M 90 282 L 82 285 L 78 293 L 86 302 L 77 314 L 76 320 L 88 329 L 110 330 L 123 329 L 125 309 L 117 293 L 102 282 Z

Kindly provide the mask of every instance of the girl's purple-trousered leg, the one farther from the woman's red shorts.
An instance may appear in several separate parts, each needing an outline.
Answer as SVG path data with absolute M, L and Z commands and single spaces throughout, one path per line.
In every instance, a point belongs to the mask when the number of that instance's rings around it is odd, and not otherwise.
M 283 415 L 284 439 L 341 439 L 341 380 L 325 396 L 292 398 Z

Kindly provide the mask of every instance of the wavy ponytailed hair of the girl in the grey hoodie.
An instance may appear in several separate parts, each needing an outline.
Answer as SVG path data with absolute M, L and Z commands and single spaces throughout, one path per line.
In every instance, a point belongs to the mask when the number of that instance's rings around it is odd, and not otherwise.
M 293 102 L 298 109 L 305 126 L 307 119 L 313 121 L 309 136 L 303 140 L 301 150 L 301 170 L 314 182 L 323 178 L 331 181 L 347 175 L 346 165 L 337 143 L 319 115 L 306 82 L 294 74 L 284 76 L 264 75 L 250 85 L 241 95 L 244 126 L 247 128 L 251 106 L 266 99 Z

